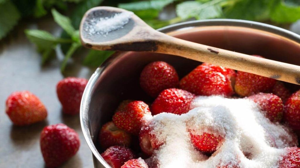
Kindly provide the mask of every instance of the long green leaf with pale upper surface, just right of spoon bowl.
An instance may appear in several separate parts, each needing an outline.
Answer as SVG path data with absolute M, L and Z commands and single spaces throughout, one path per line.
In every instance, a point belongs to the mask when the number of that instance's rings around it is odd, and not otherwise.
M 118 7 L 133 11 L 142 19 L 154 19 L 165 6 L 173 3 L 174 1 L 176 0 L 137 1 L 131 3 L 121 3 L 118 5 Z

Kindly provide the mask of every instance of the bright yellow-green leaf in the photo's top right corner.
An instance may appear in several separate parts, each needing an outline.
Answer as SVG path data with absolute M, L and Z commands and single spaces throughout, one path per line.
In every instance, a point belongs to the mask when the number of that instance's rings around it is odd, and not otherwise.
M 271 10 L 271 21 L 277 23 L 292 23 L 300 19 L 300 4 L 293 1 L 280 1 Z

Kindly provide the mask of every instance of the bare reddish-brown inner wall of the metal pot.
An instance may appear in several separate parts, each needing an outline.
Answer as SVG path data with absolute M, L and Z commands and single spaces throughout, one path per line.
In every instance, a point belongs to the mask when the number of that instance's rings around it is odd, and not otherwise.
M 177 30 L 169 33 L 181 39 L 223 48 L 244 54 L 262 55 L 269 59 L 300 65 L 300 44 L 262 30 L 235 26 L 207 26 Z M 152 103 L 139 85 L 143 67 L 152 61 L 165 61 L 173 65 L 179 77 L 188 74 L 200 62 L 179 56 L 148 52 L 119 52 L 101 66 L 100 77 L 91 90 L 88 124 L 92 140 L 99 153 L 97 138 L 101 126 L 111 121 L 122 100 L 143 100 Z M 293 90 L 296 85 L 289 85 Z M 95 153 L 94 153 L 95 154 Z

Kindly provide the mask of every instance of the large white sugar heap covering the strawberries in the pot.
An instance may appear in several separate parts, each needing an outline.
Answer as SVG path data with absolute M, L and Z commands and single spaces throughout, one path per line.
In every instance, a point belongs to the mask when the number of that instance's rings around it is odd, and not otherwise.
M 199 96 L 191 106 L 186 114 L 161 113 L 152 118 L 152 133 L 164 142 L 150 158 L 159 167 L 217 168 L 231 163 L 243 168 L 276 168 L 285 152 L 283 148 L 293 141 L 289 129 L 271 123 L 251 100 Z M 225 136 L 223 144 L 210 157 L 193 147 L 187 132 L 193 129 L 201 133 L 207 128 Z M 270 140 L 270 135 L 274 139 Z M 246 158 L 244 154 L 251 155 Z

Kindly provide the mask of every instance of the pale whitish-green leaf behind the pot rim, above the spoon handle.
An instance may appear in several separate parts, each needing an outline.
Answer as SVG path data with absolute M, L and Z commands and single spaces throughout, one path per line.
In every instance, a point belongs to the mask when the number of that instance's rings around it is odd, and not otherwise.
M 198 1 L 185 1 L 178 4 L 176 7 L 177 16 L 183 20 L 196 19 L 212 19 L 219 18 L 223 15 L 222 9 L 219 5 L 224 0 L 212 0 L 206 3 Z

